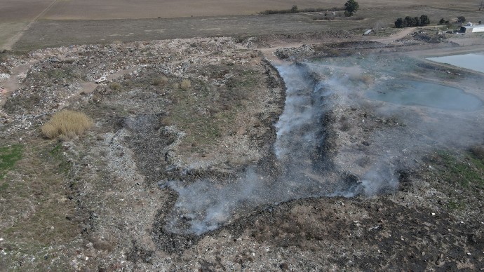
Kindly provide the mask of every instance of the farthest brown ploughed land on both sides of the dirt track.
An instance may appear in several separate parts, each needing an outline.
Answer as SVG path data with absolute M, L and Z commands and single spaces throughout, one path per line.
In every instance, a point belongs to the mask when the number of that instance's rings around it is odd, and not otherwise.
M 19 20 L 35 18 L 45 8 L 52 4 L 51 8 L 41 16 L 40 19 L 47 20 L 109 20 L 109 19 L 139 19 L 139 18 L 180 18 L 180 17 L 199 17 L 216 15 L 250 15 L 260 13 L 265 10 L 287 10 L 293 5 L 298 8 L 335 8 L 343 7 L 341 1 L 321 1 L 297 0 L 291 3 L 281 0 L 271 1 L 220 1 L 220 0 L 182 0 L 182 1 L 163 1 L 160 3 L 155 0 L 142 0 L 136 3 L 130 1 L 0 1 L 0 8 L 6 11 L 6 16 L 2 20 Z M 358 2 L 361 8 L 405 8 L 419 7 L 422 5 L 433 6 L 445 9 L 465 11 L 476 9 L 475 1 L 461 1 L 455 4 L 452 1 L 361 1 Z

